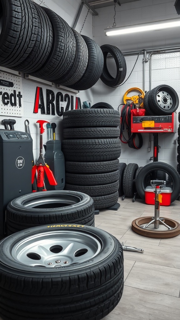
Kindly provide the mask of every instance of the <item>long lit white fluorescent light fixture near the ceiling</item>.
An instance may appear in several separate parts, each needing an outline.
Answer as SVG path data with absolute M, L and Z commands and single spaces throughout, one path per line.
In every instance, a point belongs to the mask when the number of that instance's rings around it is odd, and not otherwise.
M 161 30 L 166 28 L 175 28 L 180 26 L 180 19 L 169 19 L 156 22 L 142 23 L 139 25 L 132 25 L 119 28 L 104 29 L 106 36 L 125 35 L 128 33 Z

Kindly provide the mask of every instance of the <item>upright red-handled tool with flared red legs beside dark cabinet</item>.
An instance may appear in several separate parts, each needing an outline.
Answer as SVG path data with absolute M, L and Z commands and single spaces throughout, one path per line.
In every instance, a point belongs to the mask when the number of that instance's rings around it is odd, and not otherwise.
M 40 154 L 39 158 L 37 160 L 37 163 L 32 167 L 32 184 L 35 179 L 35 174 L 37 171 L 37 191 L 46 191 L 44 187 L 44 171 L 46 173 L 47 179 L 49 181 L 49 184 L 51 186 L 56 186 L 57 182 L 53 176 L 53 172 L 49 169 L 49 166 L 45 163 L 44 157 L 43 157 L 43 132 L 45 132 L 45 129 L 43 128 L 44 123 L 49 123 L 45 120 L 38 120 L 37 123 L 39 123 L 40 128 Z

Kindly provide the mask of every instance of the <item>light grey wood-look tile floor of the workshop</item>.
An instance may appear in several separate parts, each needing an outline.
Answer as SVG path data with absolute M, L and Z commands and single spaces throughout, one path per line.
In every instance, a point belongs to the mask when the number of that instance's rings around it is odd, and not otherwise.
M 124 291 L 116 308 L 104 320 L 180 319 L 180 235 L 154 239 L 132 231 L 141 216 L 154 216 L 154 206 L 142 199 L 132 202 L 119 197 L 117 211 L 103 209 L 95 215 L 95 226 L 116 236 L 125 245 L 144 249 L 124 253 Z M 160 217 L 180 222 L 180 202 L 160 206 Z

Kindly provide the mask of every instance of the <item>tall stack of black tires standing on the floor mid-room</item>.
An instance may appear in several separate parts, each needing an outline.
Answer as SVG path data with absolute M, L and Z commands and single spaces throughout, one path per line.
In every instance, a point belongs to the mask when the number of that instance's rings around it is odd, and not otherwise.
M 119 198 L 119 123 L 119 111 L 114 109 L 63 113 L 65 189 L 91 196 L 95 209 L 110 207 Z

